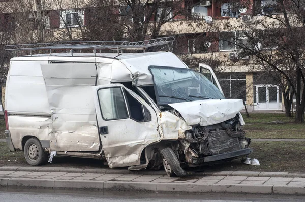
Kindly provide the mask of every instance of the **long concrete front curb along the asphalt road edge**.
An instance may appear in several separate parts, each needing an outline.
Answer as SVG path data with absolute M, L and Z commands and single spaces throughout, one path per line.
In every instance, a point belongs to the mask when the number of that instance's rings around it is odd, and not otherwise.
M 5 188 L 43 189 L 95 189 L 102 191 L 153 191 L 196 193 L 257 193 L 257 194 L 305 194 L 303 186 L 250 185 L 250 184 L 203 184 L 203 183 L 156 183 L 126 181 L 46 180 L 28 178 L 0 178 Z

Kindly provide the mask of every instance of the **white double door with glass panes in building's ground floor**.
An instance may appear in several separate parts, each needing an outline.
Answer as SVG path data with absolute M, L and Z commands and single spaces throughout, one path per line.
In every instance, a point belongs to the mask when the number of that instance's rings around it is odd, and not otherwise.
M 276 85 L 255 85 L 254 110 L 281 110 L 280 89 Z

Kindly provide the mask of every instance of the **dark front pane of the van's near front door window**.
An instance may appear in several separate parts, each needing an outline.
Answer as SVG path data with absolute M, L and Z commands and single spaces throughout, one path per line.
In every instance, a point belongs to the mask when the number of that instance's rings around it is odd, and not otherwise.
M 138 102 L 133 96 L 131 96 L 126 90 L 124 90 L 128 107 L 130 109 L 130 118 L 134 119 L 135 121 L 144 121 L 144 113 L 143 113 L 143 106 L 141 103 Z

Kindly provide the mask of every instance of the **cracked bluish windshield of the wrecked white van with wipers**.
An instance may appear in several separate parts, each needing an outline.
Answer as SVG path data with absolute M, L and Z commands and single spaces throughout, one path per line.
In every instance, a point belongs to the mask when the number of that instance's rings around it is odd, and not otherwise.
M 149 66 L 159 105 L 200 99 L 225 99 L 205 76 L 192 69 Z

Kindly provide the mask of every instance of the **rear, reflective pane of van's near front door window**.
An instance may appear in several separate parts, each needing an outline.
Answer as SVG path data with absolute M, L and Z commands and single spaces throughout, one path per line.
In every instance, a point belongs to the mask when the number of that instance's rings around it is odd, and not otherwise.
M 98 96 L 104 120 L 129 118 L 120 87 L 100 89 Z

